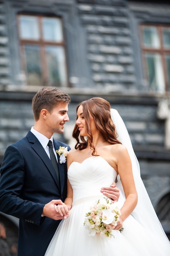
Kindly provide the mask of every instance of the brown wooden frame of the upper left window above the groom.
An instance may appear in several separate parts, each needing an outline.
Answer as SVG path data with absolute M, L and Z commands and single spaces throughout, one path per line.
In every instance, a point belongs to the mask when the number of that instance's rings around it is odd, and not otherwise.
M 33 16 L 38 19 L 38 29 L 40 32 L 40 38 L 36 40 L 24 39 L 20 37 L 20 17 L 21 16 Z M 39 45 L 40 47 L 40 64 L 42 66 L 42 86 L 49 85 L 48 80 L 48 69 L 47 63 L 45 58 L 45 47 L 46 46 L 61 46 L 64 49 L 64 58 L 65 58 L 65 70 L 66 70 L 66 85 L 60 85 L 60 87 L 69 87 L 68 83 L 68 63 L 67 63 L 67 55 L 66 55 L 66 41 L 65 41 L 65 33 L 64 33 L 64 25 L 63 20 L 60 16 L 48 16 L 42 14 L 32 14 L 32 13 L 18 13 L 17 15 L 17 32 L 18 32 L 18 40 L 19 40 L 19 49 L 20 49 L 20 61 L 21 61 L 21 68 L 25 72 L 26 75 L 26 83 L 27 83 L 27 70 L 26 70 L 26 59 L 24 54 L 24 46 L 25 45 Z M 43 18 L 59 18 L 62 24 L 62 34 L 63 40 L 60 42 L 54 42 L 49 40 L 43 40 L 43 33 L 42 33 L 42 19 Z M 30 85 L 27 83 L 27 85 Z M 34 85 L 36 86 L 36 85 Z M 58 85 L 57 85 L 58 86 Z

